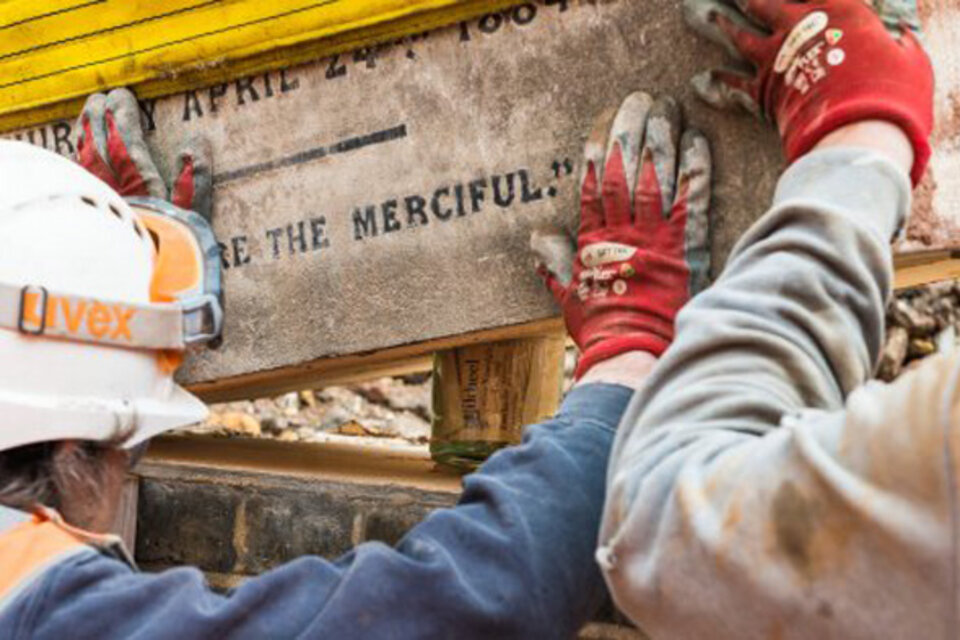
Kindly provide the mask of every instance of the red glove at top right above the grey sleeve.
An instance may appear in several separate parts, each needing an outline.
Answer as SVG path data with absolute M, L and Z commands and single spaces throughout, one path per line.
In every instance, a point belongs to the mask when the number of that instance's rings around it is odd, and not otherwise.
M 842 126 L 892 122 L 913 144 L 912 177 L 920 181 L 930 159 L 933 69 L 912 31 L 919 28 L 912 0 L 877 9 L 864 0 L 732 5 L 685 0 L 691 27 L 755 69 L 697 76 L 704 100 L 739 104 L 776 122 L 790 162 Z

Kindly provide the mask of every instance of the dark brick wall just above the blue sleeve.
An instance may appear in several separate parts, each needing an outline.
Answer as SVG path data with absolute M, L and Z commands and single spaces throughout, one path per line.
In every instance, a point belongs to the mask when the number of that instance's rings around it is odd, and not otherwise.
M 141 467 L 141 569 L 192 565 L 226 589 L 302 555 L 335 558 L 357 544 L 395 544 L 458 494 L 413 486 L 147 464 Z M 449 485 L 449 483 L 447 483 Z M 636 640 L 608 605 L 590 640 Z

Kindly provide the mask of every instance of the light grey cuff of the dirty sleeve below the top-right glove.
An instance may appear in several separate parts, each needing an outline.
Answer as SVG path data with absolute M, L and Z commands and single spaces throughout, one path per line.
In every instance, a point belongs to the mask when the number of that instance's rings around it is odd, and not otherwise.
M 910 214 L 910 179 L 876 151 L 822 149 L 801 158 L 780 179 L 774 206 L 793 204 L 835 211 L 890 241 Z

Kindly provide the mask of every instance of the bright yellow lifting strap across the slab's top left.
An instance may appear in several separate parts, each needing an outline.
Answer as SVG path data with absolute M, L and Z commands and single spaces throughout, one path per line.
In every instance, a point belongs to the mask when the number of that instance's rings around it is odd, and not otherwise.
M 150 97 L 420 32 L 516 0 L 7 0 L 0 130 L 76 115 L 84 96 Z

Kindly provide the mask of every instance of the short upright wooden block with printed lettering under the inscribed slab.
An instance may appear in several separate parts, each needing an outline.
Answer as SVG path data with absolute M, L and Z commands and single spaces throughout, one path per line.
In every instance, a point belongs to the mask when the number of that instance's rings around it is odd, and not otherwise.
M 524 427 L 552 416 L 560 405 L 565 353 L 562 332 L 438 353 L 434 460 L 470 470 L 519 443 Z

